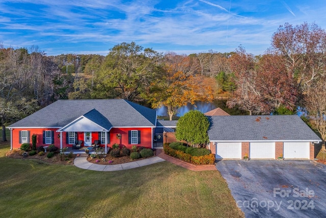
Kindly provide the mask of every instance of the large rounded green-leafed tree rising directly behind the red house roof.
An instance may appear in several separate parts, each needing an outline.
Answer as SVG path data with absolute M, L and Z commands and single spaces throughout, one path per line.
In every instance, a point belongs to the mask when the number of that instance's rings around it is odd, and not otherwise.
M 115 45 L 95 75 L 93 98 L 140 99 L 153 78 L 161 54 L 134 42 Z

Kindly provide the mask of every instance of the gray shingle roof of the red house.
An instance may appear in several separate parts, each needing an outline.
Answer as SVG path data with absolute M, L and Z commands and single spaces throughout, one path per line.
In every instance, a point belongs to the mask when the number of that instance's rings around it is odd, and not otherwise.
M 113 127 L 155 127 L 156 111 L 123 100 L 59 100 L 27 116 L 9 127 L 64 127 L 76 118 L 87 115 L 94 121 L 96 111 Z M 89 118 L 88 117 L 88 118 Z M 103 120 L 97 120 L 102 122 Z

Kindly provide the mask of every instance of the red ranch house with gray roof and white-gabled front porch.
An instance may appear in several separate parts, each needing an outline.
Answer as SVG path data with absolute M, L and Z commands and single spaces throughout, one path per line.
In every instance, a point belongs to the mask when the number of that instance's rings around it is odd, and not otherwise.
M 100 147 L 133 145 L 153 148 L 156 111 L 122 100 L 59 100 L 9 126 L 11 149 L 31 143 L 37 147 L 54 144 L 74 148 L 98 144 Z

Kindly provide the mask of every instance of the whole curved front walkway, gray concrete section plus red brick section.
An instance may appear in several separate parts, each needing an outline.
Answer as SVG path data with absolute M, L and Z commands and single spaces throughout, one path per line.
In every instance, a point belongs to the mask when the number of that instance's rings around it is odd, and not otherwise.
M 147 158 L 147 159 L 143 159 L 143 160 L 132 161 L 129 163 L 121 163 L 121 164 L 115 164 L 115 165 L 95 164 L 95 163 L 89 162 L 85 156 L 84 157 L 76 157 L 73 163 L 78 168 L 90 169 L 92 171 L 122 171 L 124 169 L 137 168 L 137 167 L 146 166 L 146 165 L 150 165 L 150 164 L 158 163 L 158 162 L 162 162 L 162 161 L 169 161 L 173 164 L 176 164 L 183 168 L 189 169 L 191 171 L 216 171 L 215 165 L 194 165 L 191 163 L 187 163 L 187 162 L 184 162 L 177 158 L 166 155 L 164 153 L 163 149 L 156 149 L 155 157 L 151 157 L 151 158 Z

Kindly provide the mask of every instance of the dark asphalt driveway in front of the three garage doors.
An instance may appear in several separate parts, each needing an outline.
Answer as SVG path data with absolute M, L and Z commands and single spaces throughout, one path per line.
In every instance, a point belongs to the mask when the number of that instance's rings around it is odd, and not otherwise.
M 216 168 L 246 217 L 325 217 L 326 165 L 307 160 L 222 160 Z

